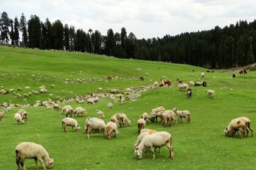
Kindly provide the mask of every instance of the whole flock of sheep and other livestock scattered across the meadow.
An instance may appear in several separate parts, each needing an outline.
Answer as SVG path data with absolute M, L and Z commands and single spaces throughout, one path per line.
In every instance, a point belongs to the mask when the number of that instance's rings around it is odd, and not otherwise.
M 199 75 L 199 80 L 204 79 L 204 73 L 201 73 Z M 110 80 L 111 77 L 108 77 Z M 140 78 L 140 80 L 142 80 Z M 152 81 L 152 80 L 151 80 Z M 157 84 L 156 82 L 154 83 Z M 171 86 L 171 81 L 168 79 L 162 80 L 160 84 L 157 84 L 157 87 L 165 87 L 165 86 Z M 206 86 L 205 81 L 198 81 L 194 83 L 193 81 L 190 81 L 188 84 L 183 83 L 179 79 L 177 80 L 177 87 L 179 87 L 180 91 L 185 91 L 187 89 L 187 96 L 188 98 L 192 97 L 192 90 L 191 86 Z M 19 90 L 19 89 L 18 89 Z M 102 88 L 99 87 L 99 92 L 102 92 Z M 108 92 L 116 91 L 117 89 L 108 89 Z M 21 91 L 21 89 L 20 89 Z M 40 92 L 47 92 L 44 86 L 40 87 Z M 118 91 L 119 92 L 119 91 Z M 215 91 L 206 89 L 205 92 L 209 95 L 214 97 Z M 122 94 L 118 95 L 119 100 L 122 104 L 124 104 L 124 96 Z M 110 101 L 113 103 L 114 99 L 112 96 L 109 97 Z M 92 100 L 92 101 L 90 101 Z M 99 99 L 97 99 L 98 101 Z M 80 103 L 80 100 L 75 100 L 76 103 Z M 97 101 L 95 101 L 95 98 L 88 98 L 87 104 L 94 104 Z M 83 102 L 84 103 L 84 102 Z M 48 103 L 43 103 L 43 106 L 49 107 Z M 107 139 L 112 139 L 112 134 L 115 135 L 117 138 L 117 135 L 119 133 L 118 128 L 120 127 L 126 127 L 131 126 L 132 121 L 129 120 L 126 114 L 124 113 L 116 113 L 112 117 L 109 118 L 110 121 L 106 124 L 104 119 L 105 115 L 104 112 L 97 109 L 96 114 L 98 117 L 88 117 L 87 111 L 83 107 L 76 107 L 76 109 L 73 109 L 72 106 L 66 105 L 64 107 L 61 107 L 59 103 L 52 103 L 52 106 L 54 107 L 54 110 L 61 110 L 61 114 L 65 115 L 66 117 L 62 119 L 62 128 L 64 132 L 67 131 L 67 127 L 71 126 L 72 131 L 79 131 L 80 126 L 77 123 L 77 120 L 75 117 L 83 116 L 87 117 L 85 119 L 85 133 L 87 134 L 88 139 L 90 139 L 90 134 L 93 132 L 99 132 L 101 135 L 105 134 L 107 135 Z M 0 122 L 1 118 L 4 117 L 4 115 L 7 114 L 7 110 L 4 110 L 3 112 L 0 112 Z M 71 118 L 73 117 L 73 118 Z M 14 115 L 14 118 L 16 120 L 16 124 L 25 123 L 28 118 L 28 114 L 26 110 L 20 109 L 16 114 Z M 178 122 L 182 123 L 182 118 L 185 118 L 187 120 L 187 124 L 190 123 L 191 120 L 191 114 L 188 110 L 178 110 L 177 108 L 173 108 L 170 110 L 166 110 L 164 107 L 156 107 L 151 110 L 151 114 L 147 114 L 144 112 L 141 114 L 137 121 L 137 127 L 138 127 L 138 137 L 137 141 L 134 144 L 134 154 L 138 158 L 143 158 L 143 155 L 146 156 L 146 151 L 150 149 L 152 152 L 152 158 L 155 158 L 155 149 L 160 148 L 162 146 L 166 146 L 169 149 L 169 157 L 174 158 L 174 149 L 172 148 L 172 137 L 169 132 L 166 131 L 155 131 L 154 129 L 146 129 L 145 127 L 149 122 L 157 123 L 157 118 L 160 118 L 160 123 L 163 124 L 163 126 L 171 126 L 173 122 L 176 124 Z M 239 135 L 238 132 L 241 132 L 241 138 L 247 137 L 249 134 L 249 131 L 251 131 L 251 136 L 253 137 L 253 129 L 251 127 L 251 121 L 249 118 L 246 117 L 239 117 L 235 118 L 230 121 L 226 129 L 224 130 L 224 134 L 229 137 L 234 137 L 236 134 Z M 15 148 L 16 153 L 16 165 L 17 169 L 20 169 L 20 166 L 23 169 L 26 169 L 24 166 L 24 160 L 26 158 L 33 158 L 35 160 L 35 165 L 38 168 L 37 160 L 40 161 L 40 163 L 43 165 L 43 168 L 46 169 L 46 166 L 51 169 L 54 163 L 54 160 L 49 156 L 46 149 L 43 148 L 40 144 L 31 143 L 31 142 L 23 142 L 18 144 Z

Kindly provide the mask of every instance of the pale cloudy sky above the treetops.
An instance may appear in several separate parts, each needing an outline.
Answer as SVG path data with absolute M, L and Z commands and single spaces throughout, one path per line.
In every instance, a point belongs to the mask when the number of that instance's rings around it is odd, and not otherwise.
M 208 30 L 256 18 L 254 0 L 0 0 L 0 4 L 0 12 L 10 18 L 20 18 L 23 12 L 27 20 L 30 15 L 41 21 L 60 19 L 76 29 L 91 28 L 103 35 L 110 28 L 120 32 L 125 27 L 137 38 Z

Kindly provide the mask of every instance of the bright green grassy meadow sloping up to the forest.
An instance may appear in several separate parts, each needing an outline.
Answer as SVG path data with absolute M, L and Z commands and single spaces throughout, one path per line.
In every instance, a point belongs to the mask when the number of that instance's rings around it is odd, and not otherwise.
M 152 84 L 149 83 L 150 78 L 160 81 L 163 76 L 175 85 L 146 90 L 136 101 L 126 100 L 124 105 L 118 101 L 112 109 L 106 107 L 109 98 L 102 98 L 100 103 L 90 106 L 74 102 L 61 104 L 85 107 L 89 117 L 96 117 L 96 109 L 100 109 L 105 114 L 105 123 L 116 112 L 124 112 L 132 120 L 132 126 L 119 128 L 118 138 L 112 140 L 98 133 L 90 135 L 88 140 L 84 132 L 84 117 L 76 117 L 82 127 L 80 132 L 72 132 L 68 127 L 69 132 L 65 133 L 60 111 L 44 107 L 26 107 L 28 121 L 16 125 L 13 115 L 20 108 L 11 109 L 0 123 L 1 170 L 16 168 L 15 147 L 23 141 L 43 145 L 54 158 L 53 169 L 255 169 L 255 137 L 251 138 L 250 133 L 243 140 L 240 137 L 230 138 L 223 131 L 230 120 L 241 116 L 248 117 L 252 128 L 256 129 L 256 72 L 249 71 L 241 77 L 236 73 L 236 78 L 232 78 L 232 72 L 215 70 L 207 73 L 204 68 L 184 64 L 3 46 L 0 46 L 0 63 L 0 86 L 4 89 L 21 87 L 21 95 L 38 90 L 42 85 L 48 89 L 48 93 L 32 95 L 26 101 L 12 94 L 0 94 L 0 104 L 34 104 L 36 100 L 76 97 L 97 92 L 98 87 L 102 87 L 104 92 L 108 88 L 117 88 L 123 93 L 127 87 L 148 86 Z M 137 70 L 139 68 L 141 70 Z M 207 87 L 191 87 L 193 97 L 188 100 L 187 93 L 176 87 L 176 80 L 195 82 L 199 80 L 200 72 L 205 73 Z M 118 80 L 107 81 L 107 76 L 118 77 Z M 145 80 L 140 81 L 140 77 Z M 68 83 L 65 83 L 67 78 Z M 78 83 L 77 79 L 83 79 L 84 83 Z M 50 88 L 51 84 L 55 88 Z M 26 89 L 26 86 L 30 88 Z M 205 89 L 215 90 L 216 97 L 208 97 Z M 190 124 L 184 120 L 171 127 L 163 127 L 159 122 L 146 125 L 146 128 L 167 131 L 172 135 L 174 159 L 168 158 L 168 149 L 163 147 L 160 154 L 155 154 L 155 160 L 152 160 L 150 151 L 146 158 L 138 160 L 133 150 L 138 136 L 137 120 L 143 112 L 150 114 L 151 109 L 158 106 L 168 110 L 174 107 L 190 110 Z M 35 169 L 34 160 L 26 160 L 25 165 L 27 169 Z M 40 169 L 43 169 L 41 165 Z

